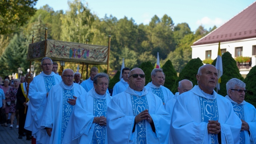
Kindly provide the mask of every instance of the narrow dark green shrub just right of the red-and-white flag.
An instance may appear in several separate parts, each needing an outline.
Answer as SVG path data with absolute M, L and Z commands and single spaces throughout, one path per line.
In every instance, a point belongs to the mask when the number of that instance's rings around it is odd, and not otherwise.
M 177 72 L 172 66 L 172 62 L 168 60 L 162 67 L 163 72 L 165 73 L 165 87 L 172 89 L 175 80 L 177 79 Z

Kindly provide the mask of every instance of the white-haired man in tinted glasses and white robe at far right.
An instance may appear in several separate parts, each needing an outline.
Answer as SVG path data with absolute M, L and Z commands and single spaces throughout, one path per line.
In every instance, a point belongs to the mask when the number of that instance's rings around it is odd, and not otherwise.
M 240 143 L 256 144 L 256 109 L 244 100 L 245 83 L 237 78 L 232 78 L 226 84 L 227 98 L 233 105 L 234 112 L 242 121 Z

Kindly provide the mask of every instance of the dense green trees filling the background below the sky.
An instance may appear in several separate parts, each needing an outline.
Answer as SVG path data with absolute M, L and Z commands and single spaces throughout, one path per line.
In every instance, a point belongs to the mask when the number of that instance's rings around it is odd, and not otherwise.
M 15 0 L 8 2 L 13 1 Z M 25 2 L 30 5 L 27 5 L 29 8 L 23 14 L 30 16 L 23 19 L 25 23 L 20 22 L 20 26 L 16 26 L 18 29 L 15 29 L 14 33 L 23 33 L 23 38 L 27 43 L 32 42 L 32 35 L 34 35 L 34 42 L 38 42 L 44 40 L 45 27 L 47 27 L 48 39 L 80 43 L 85 43 L 88 39 L 89 44 L 96 45 L 108 45 L 108 35 L 111 34 L 110 71 L 118 70 L 121 67 L 122 58 L 125 59 L 125 65 L 130 68 L 138 67 L 147 61 L 154 64 L 157 52 L 159 52 L 162 64 L 171 60 L 174 69 L 181 72 L 191 59 L 190 46 L 193 45 L 193 42 L 215 28 L 208 31 L 200 26 L 195 32 L 192 32 L 187 23 L 174 25 L 172 18 L 166 14 L 162 17 L 153 16 L 148 25 L 138 25 L 132 18 L 127 17 L 117 19 L 112 15 L 105 15 L 104 18 L 99 18 L 80 0 L 69 1 L 69 10 L 65 13 L 62 10 L 54 11 L 48 5 L 34 13 L 33 5 L 36 0 L 28 0 L 23 3 Z M 4 8 L 2 6 L 1 8 Z M 12 5 L 11 7 L 18 10 L 17 6 Z M 0 56 L 10 41 L 14 39 L 13 25 L 6 21 L 1 21 L 1 23 L 3 23 L 2 27 L 11 29 L 6 29 L 7 33 L 0 35 Z M 23 26 L 21 26 L 22 24 Z M 17 55 L 12 55 L 12 57 L 18 58 Z M 17 72 L 18 67 L 28 67 L 12 64 L 13 67 L 16 67 L 15 70 L 8 69 L 6 65 L 3 65 L 1 68 L 5 71 L 0 71 L 0 75 L 10 75 Z M 75 68 L 76 64 L 67 64 L 67 66 Z M 64 68 L 67 68 L 66 65 Z M 101 65 L 100 69 L 105 70 L 106 66 Z M 40 67 L 35 67 L 35 71 L 40 71 Z

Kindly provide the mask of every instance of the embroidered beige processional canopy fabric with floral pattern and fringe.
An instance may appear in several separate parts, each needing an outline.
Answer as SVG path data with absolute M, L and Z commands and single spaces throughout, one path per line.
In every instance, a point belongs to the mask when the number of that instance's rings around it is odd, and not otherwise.
M 49 57 L 52 60 L 71 63 L 107 64 L 108 46 L 49 39 L 46 40 L 46 45 L 45 50 L 45 41 L 29 44 L 27 59 L 37 61 Z

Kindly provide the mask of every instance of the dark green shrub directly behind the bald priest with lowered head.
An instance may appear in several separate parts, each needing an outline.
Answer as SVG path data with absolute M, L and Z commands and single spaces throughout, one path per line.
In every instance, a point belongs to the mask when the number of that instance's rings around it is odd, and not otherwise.
M 200 58 L 195 58 L 195 59 L 191 59 L 186 66 L 184 67 L 184 69 L 182 69 L 179 77 L 176 79 L 175 84 L 172 87 L 172 92 L 175 93 L 177 92 L 177 87 L 179 86 L 179 81 L 187 79 L 189 81 L 191 81 L 194 85 L 197 85 L 197 79 L 196 79 L 196 75 L 198 72 L 198 69 L 203 65 L 203 62 Z

